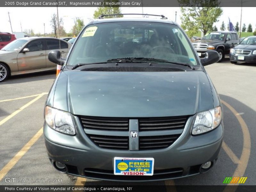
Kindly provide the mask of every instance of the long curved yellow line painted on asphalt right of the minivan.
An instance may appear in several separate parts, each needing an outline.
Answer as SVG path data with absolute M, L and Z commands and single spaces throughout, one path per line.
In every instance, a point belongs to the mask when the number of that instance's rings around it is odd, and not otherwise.
M 250 137 L 250 132 L 249 129 L 246 125 L 246 123 L 244 122 L 244 119 L 238 114 L 238 112 L 231 106 L 229 105 L 227 102 L 221 100 L 222 104 L 224 104 L 227 108 L 229 108 L 229 110 L 236 116 L 241 128 L 242 128 L 242 132 L 243 132 L 243 150 L 242 150 L 242 154 L 239 160 L 239 163 L 236 167 L 236 170 L 233 174 L 233 177 L 243 177 L 244 176 L 244 172 L 245 169 L 248 165 L 248 161 L 249 161 L 249 157 L 250 157 L 250 153 L 251 153 L 251 137 Z M 239 185 L 239 183 L 236 184 L 231 184 L 229 183 L 228 185 Z M 224 192 L 228 192 L 228 191 L 236 191 L 236 188 L 228 188 L 228 186 L 224 189 Z

